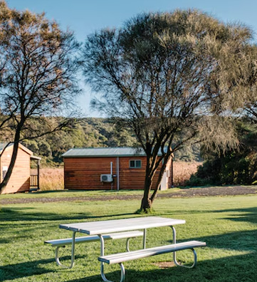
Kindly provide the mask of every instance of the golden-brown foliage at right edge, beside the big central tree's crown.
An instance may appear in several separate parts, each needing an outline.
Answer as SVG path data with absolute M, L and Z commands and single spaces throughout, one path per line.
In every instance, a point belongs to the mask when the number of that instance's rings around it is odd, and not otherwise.
M 249 33 L 250 35 L 250 33 Z M 248 35 L 248 36 L 249 36 Z M 241 36 L 240 33 L 237 36 Z M 251 38 L 251 37 L 249 37 Z M 224 46 L 219 66 L 218 83 L 211 87 L 221 88 L 217 107 L 234 117 L 257 121 L 257 46 L 252 41 L 234 42 Z

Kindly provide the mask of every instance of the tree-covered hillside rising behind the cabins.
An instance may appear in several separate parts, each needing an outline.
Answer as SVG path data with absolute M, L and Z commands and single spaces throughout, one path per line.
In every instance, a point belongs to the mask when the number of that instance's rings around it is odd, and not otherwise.
M 42 157 L 43 167 L 62 165 L 61 155 L 73 147 L 132 147 L 136 145 L 131 130 L 118 128 L 110 118 L 80 118 L 74 121 L 73 130 L 54 132 L 36 140 L 27 140 L 23 145 L 34 155 Z M 3 137 L 2 137 L 3 139 Z M 9 141 L 7 137 L 5 140 Z M 185 148 L 175 155 L 177 160 L 199 160 L 199 148 Z

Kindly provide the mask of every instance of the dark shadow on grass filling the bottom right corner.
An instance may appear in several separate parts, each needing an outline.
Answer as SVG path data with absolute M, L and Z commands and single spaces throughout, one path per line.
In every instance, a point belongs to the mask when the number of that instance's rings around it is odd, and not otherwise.
M 171 256 L 172 257 L 172 256 Z M 140 261 L 138 261 L 140 264 Z M 126 267 L 127 282 L 254 282 L 256 281 L 257 268 L 256 254 L 242 256 L 229 256 L 225 258 L 209 259 L 198 263 L 196 268 L 188 269 L 172 267 L 144 271 L 142 267 L 135 271 Z M 251 267 L 253 266 L 253 267 Z M 120 271 L 106 274 L 107 279 L 119 281 Z M 65 280 L 65 282 L 99 282 L 100 274 L 84 278 Z

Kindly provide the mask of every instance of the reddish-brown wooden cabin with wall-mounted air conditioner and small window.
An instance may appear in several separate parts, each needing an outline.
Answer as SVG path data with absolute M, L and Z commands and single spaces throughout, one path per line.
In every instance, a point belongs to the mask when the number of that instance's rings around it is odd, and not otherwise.
M 147 157 L 132 147 L 70 149 L 63 154 L 64 187 L 70 190 L 144 189 Z M 161 189 L 172 187 L 172 160 Z M 157 181 L 157 174 L 154 182 Z

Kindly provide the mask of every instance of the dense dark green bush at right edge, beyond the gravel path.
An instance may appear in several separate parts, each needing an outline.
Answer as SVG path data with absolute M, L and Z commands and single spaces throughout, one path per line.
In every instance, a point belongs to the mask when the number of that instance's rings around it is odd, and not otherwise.
M 190 186 L 253 184 L 257 180 L 257 129 L 246 120 L 236 122 L 240 145 L 238 150 L 215 154 L 204 152 L 205 162 L 187 183 Z

